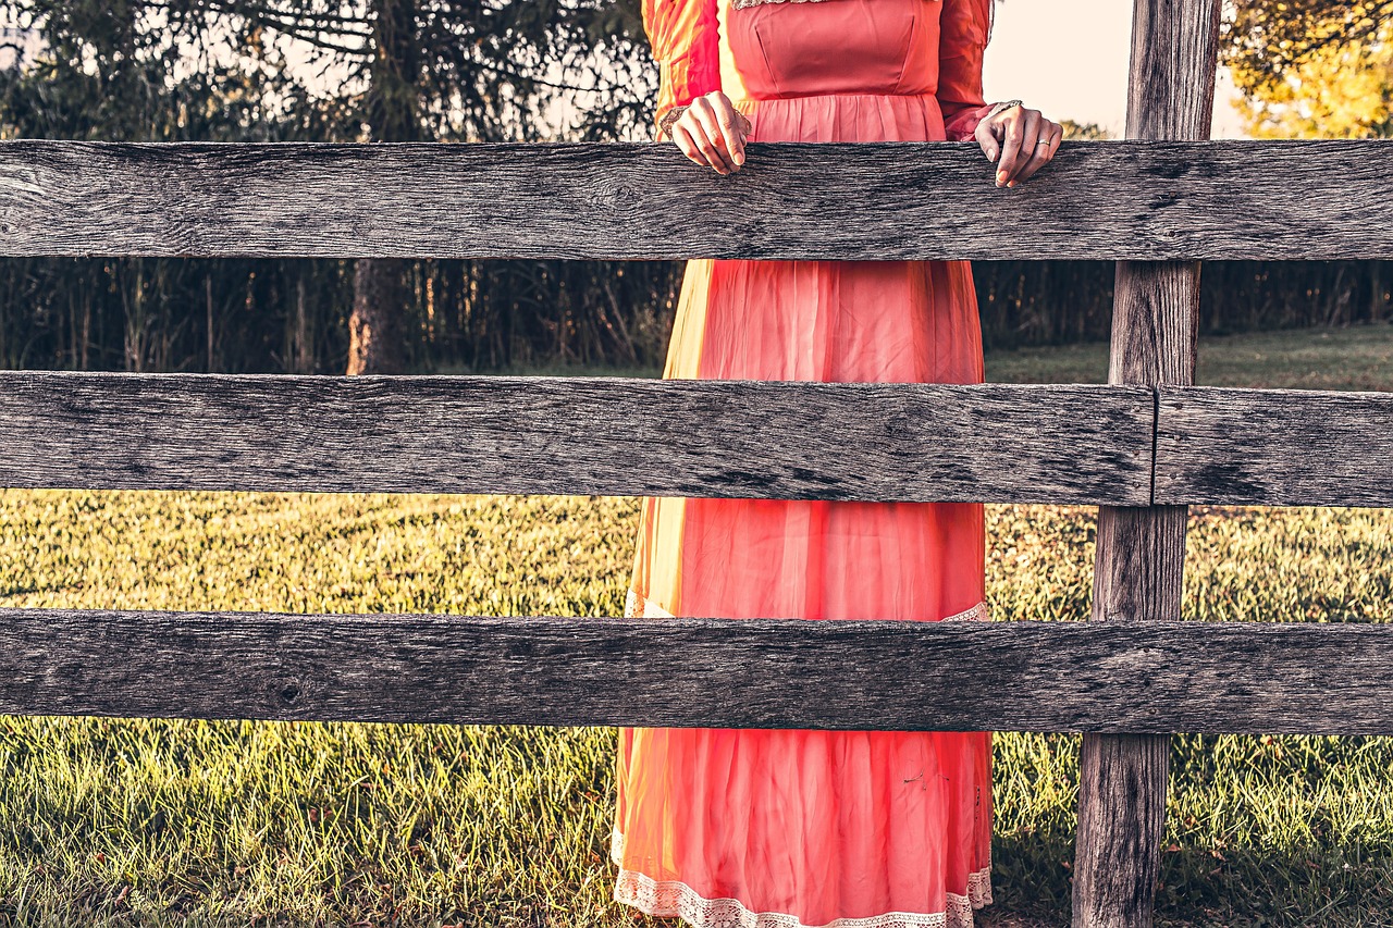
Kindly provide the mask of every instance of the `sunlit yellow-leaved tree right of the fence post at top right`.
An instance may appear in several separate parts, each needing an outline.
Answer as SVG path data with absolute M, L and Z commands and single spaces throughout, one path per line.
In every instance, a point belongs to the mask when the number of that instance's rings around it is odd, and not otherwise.
M 1240 0 L 1223 47 L 1252 135 L 1393 135 L 1393 0 Z

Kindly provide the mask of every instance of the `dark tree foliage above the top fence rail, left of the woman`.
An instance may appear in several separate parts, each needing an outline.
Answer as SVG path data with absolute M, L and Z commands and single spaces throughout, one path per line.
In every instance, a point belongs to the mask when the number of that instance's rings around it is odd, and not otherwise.
M 632 3 L 3 0 L 6 20 L 39 39 L 0 72 L 0 131 L 29 138 L 613 138 L 651 105 Z

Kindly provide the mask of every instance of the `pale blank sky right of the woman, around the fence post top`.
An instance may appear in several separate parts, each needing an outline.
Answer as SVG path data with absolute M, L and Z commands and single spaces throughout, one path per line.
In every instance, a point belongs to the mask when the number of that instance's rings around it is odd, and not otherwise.
M 1131 0 L 1004 0 L 996 4 L 982 79 L 988 100 L 1020 98 L 1053 120 L 1127 125 Z M 1215 138 L 1244 138 L 1233 84 L 1220 71 Z

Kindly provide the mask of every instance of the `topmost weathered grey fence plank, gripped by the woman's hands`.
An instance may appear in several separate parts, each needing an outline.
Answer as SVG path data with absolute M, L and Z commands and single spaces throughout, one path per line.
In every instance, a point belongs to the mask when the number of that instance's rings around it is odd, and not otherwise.
M 1015 190 L 992 170 L 947 142 L 752 144 L 719 177 L 651 144 L 10 141 L 0 255 L 1393 258 L 1389 141 L 1066 142 Z

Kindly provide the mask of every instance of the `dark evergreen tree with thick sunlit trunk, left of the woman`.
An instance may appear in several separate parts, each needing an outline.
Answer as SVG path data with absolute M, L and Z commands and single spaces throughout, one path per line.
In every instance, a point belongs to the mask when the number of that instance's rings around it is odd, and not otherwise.
M 556 0 L 164 0 L 203 35 L 233 26 L 245 38 L 280 36 L 318 74 L 338 75 L 294 88 L 297 99 L 326 103 L 338 131 L 322 141 L 535 141 L 557 121 L 561 93 L 613 98 L 592 131 L 623 131 L 641 113 L 616 63 L 593 67 L 613 14 L 591 1 Z M 620 32 L 621 43 L 625 38 Z M 244 40 L 247 40 L 244 38 Z M 589 64 L 591 67 L 584 67 Z M 589 77 L 589 86 L 567 82 Z M 609 81 L 603 75 L 610 75 Z M 624 107 L 623 103 L 628 102 Z M 560 120 L 564 132 L 567 120 Z M 348 316 L 348 373 L 400 373 L 405 366 L 407 274 L 415 262 L 359 259 Z

